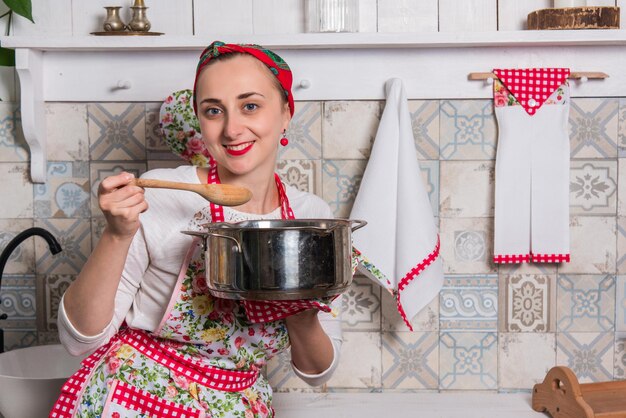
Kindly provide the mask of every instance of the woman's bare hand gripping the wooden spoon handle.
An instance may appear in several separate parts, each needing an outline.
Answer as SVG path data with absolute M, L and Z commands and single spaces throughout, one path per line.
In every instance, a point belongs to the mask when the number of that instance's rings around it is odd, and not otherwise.
M 132 238 L 139 229 L 139 214 L 148 209 L 144 189 L 131 184 L 134 176 L 122 172 L 100 182 L 98 204 L 107 229 L 116 238 Z

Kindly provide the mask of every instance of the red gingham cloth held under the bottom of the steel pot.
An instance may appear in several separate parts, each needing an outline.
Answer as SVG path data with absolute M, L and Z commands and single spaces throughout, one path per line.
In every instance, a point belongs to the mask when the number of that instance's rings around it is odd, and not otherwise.
M 253 324 L 277 321 L 295 315 L 307 309 L 318 309 L 322 312 L 331 312 L 330 300 L 300 299 L 300 300 L 263 300 L 241 302 L 248 320 Z

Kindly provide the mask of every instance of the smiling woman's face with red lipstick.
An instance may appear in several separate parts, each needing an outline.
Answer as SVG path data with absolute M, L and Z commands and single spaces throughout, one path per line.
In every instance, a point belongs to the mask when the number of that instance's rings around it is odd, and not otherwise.
M 208 65 L 198 78 L 202 137 L 218 165 L 233 174 L 274 171 L 290 114 L 273 77 L 256 58 L 238 55 Z

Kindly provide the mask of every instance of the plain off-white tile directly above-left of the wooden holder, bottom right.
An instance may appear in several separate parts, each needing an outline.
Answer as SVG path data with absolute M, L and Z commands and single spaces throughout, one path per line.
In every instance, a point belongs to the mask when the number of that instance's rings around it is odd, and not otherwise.
M 556 364 L 556 334 L 500 333 L 498 374 L 500 389 L 528 390 L 543 382 Z

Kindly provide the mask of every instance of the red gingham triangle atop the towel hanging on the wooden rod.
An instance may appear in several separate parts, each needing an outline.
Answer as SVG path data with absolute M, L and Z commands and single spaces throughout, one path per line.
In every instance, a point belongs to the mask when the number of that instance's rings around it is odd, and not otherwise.
M 570 75 L 569 68 L 494 69 L 493 73 L 529 115 L 534 115 Z

